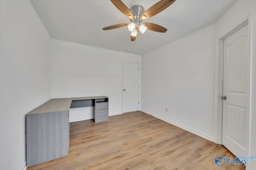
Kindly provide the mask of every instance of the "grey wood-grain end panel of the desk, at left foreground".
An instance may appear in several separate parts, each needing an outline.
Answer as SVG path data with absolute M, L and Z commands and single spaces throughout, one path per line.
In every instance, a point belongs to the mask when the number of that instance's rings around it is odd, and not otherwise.
M 68 155 L 69 111 L 26 115 L 27 167 Z

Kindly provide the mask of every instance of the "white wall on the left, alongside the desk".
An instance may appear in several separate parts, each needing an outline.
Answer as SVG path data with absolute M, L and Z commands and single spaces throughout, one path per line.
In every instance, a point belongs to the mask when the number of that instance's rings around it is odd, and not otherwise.
M 51 96 L 51 39 L 30 1 L 0 1 L 1 170 L 25 168 L 25 114 Z

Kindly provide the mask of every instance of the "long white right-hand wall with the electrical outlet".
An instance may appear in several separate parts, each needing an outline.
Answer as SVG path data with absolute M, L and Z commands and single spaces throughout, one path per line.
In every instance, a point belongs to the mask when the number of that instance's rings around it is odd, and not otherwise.
M 210 140 L 215 29 L 212 24 L 142 56 L 142 111 Z

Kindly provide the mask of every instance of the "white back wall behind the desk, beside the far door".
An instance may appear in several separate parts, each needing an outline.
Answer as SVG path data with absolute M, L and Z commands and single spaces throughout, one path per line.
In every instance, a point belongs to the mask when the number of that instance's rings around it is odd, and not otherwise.
M 108 96 L 109 115 L 122 113 L 122 61 L 141 56 L 52 39 L 52 98 Z

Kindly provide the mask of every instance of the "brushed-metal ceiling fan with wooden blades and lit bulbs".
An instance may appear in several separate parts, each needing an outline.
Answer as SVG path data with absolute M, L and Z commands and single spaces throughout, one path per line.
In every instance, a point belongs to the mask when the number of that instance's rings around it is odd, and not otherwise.
M 159 2 L 148 8 L 148 10 L 144 11 L 144 8 L 140 5 L 132 6 L 129 9 L 121 0 L 110 1 L 114 4 L 114 6 L 116 6 L 116 8 L 118 8 L 118 10 L 120 10 L 124 15 L 130 18 L 130 23 L 120 23 L 102 29 L 116 29 L 128 25 L 128 29 L 129 31 L 131 31 L 131 41 L 135 41 L 138 35 L 138 30 L 140 30 L 141 33 L 144 33 L 146 29 L 150 29 L 151 31 L 156 31 L 160 33 L 165 33 L 167 31 L 165 27 L 143 21 L 162 12 L 168 6 L 175 2 L 175 0 L 160 0 Z

